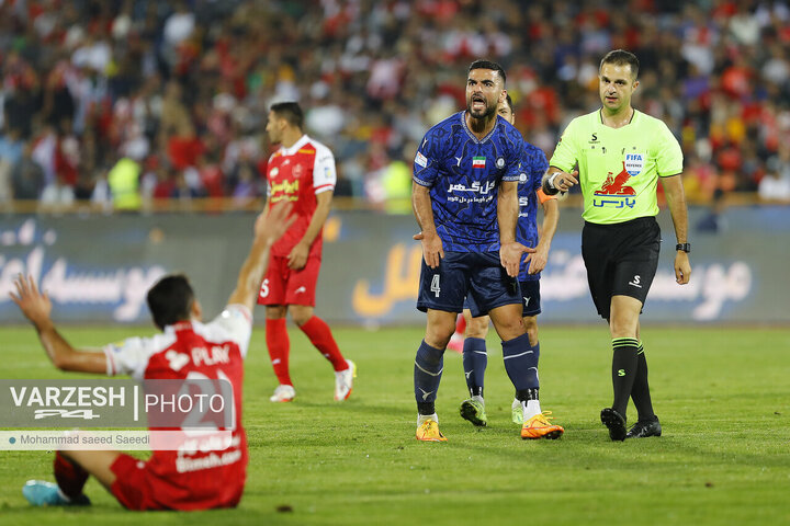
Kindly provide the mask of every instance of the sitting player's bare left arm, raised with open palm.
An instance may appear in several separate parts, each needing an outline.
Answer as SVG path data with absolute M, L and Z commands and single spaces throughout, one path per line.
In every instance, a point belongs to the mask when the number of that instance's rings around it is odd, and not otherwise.
M 33 277 L 20 274 L 14 285 L 16 294 L 10 293 L 11 299 L 35 328 L 55 367 L 81 373 L 106 373 L 103 352 L 77 351 L 60 335 L 50 318 L 52 301 L 46 293 L 38 290 Z

